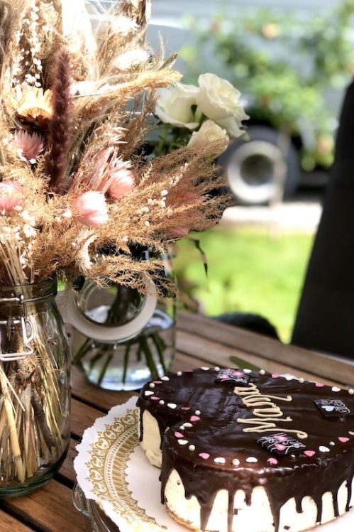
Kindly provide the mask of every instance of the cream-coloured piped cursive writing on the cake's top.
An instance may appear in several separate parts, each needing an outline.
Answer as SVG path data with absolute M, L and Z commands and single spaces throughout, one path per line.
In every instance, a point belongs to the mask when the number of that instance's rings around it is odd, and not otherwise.
M 236 386 L 233 392 L 240 396 L 242 403 L 247 408 L 253 408 L 254 418 L 238 418 L 237 420 L 238 423 L 243 423 L 245 425 L 255 425 L 244 428 L 244 433 L 267 433 L 274 432 L 274 430 L 282 430 L 284 433 L 295 433 L 297 438 L 300 438 L 301 440 L 308 438 L 309 435 L 303 430 L 283 428 L 275 423 L 275 421 L 289 423 L 292 421 L 292 418 L 289 418 L 289 416 L 284 418 L 284 413 L 276 403 L 272 402 L 272 399 L 289 403 L 292 401 L 292 396 L 280 397 L 263 395 L 253 383 L 250 383 L 248 386 Z M 264 408 L 254 408 L 258 406 Z

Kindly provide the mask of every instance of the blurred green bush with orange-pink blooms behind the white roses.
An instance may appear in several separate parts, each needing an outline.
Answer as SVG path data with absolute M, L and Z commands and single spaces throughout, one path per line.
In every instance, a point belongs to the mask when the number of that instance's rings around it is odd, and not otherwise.
M 333 162 L 335 117 L 325 93 L 342 89 L 354 74 L 353 15 L 354 1 L 343 0 L 313 18 L 253 9 L 236 18 L 223 13 L 208 28 L 189 20 L 197 41 L 183 50 L 182 58 L 194 78 L 203 50 L 209 55 L 212 48 L 228 79 L 249 99 L 251 118 L 306 137 L 306 170 L 328 166 Z

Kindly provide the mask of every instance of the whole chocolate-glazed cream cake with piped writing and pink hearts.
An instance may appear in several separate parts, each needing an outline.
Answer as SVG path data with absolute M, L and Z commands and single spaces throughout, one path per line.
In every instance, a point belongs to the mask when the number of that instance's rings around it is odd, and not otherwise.
M 299 532 L 344 514 L 354 504 L 353 394 L 247 369 L 148 383 L 140 442 L 162 464 L 162 503 L 203 532 Z

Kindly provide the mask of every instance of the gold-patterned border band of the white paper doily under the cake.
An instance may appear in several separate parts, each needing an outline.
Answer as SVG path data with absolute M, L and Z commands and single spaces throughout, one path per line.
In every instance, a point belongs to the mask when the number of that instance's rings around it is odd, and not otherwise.
M 97 433 L 97 440 L 90 446 L 87 462 L 92 492 L 99 506 L 112 519 L 112 511 L 123 519 L 131 532 L 162 532 L 165 526 L 156 523 L 138 506 L 126 480 L 126 466 L 138 440 L 138 410 L 128 410 L 125 416 L 115 418 Z M 158 504 L 159 501 L 156 501 Z M 114 519 L 116 522 L 116 519 Z M 121 522 L 116 522 L 121 526 Z

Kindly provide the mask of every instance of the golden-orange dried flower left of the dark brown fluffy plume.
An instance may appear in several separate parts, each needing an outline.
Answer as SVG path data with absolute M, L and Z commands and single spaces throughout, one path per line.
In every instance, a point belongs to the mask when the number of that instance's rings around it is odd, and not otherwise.
M 43 91 L 38 87 L 16 87 L 13 89 L 11 103 L 18 118 L 27 124 L 42 127 L 52 118 L 52 91 Z

